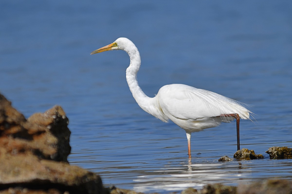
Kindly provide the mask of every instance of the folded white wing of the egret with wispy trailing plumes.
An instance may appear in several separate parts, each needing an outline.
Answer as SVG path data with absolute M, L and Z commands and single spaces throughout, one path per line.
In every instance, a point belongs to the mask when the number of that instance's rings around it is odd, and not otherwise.
M 243 119 L 249 118 L 250 111 L 244 104 L 214 92 L 183 84 L 163 86 L 157 97 L 162 111 L 168 117 L 195 120 L 237 113 Z

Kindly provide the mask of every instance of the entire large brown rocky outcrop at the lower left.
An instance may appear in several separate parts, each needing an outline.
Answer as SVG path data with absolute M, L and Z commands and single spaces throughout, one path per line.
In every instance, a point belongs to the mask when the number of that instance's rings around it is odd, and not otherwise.
M 27 120 L 0 94 L 0 193 L 104 193 L 100 176 L 69 165 L 60 106 Z

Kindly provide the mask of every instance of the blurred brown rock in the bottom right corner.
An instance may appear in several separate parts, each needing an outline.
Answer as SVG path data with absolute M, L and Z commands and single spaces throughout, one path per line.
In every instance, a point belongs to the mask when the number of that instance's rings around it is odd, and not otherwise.
M 238 194 L 288 194 L 292 193 L 292 182 L 288 180 L 267 180 L 264 183 L 239 184 Z

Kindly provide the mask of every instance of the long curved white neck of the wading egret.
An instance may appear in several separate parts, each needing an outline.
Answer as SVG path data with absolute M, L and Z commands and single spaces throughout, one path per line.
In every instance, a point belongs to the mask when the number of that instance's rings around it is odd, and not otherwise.
M 133 94 L 134 99 L 138 103 L 138 105 L 146 112 L 149 113 L 148 107 L 150 103 L 150 97 L 145 95 L 145 93 L 140 88 L 138 81 L 137 81 L 137 73 L 139 71 L 141 65 L 141 58 L 139 51 L 136 47 L 132 47 L 130 51 L 127 51 L 130 57 L 130 65 L 126 70 L 126 79 L 130 91 Z

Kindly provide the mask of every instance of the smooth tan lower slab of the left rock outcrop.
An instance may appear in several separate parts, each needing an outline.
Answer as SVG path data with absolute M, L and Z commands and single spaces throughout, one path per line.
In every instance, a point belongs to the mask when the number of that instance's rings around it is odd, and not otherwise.
M 0 188 L 56 189 L 64 193 L 102 193 L 98 175 L 67 162 L 25 154 L 0 155 Z

